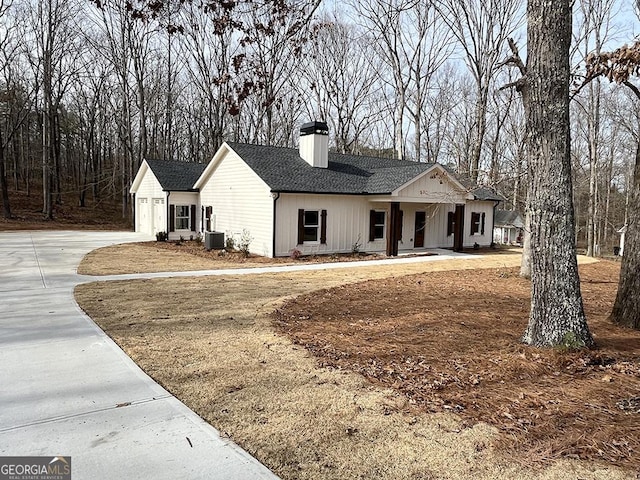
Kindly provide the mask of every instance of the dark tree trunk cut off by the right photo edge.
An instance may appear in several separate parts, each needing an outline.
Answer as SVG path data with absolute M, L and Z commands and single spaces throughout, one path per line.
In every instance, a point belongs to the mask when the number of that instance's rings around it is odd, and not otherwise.
M 620 282 L 610 318 L 618 325 L 640 329 L 640 144 L 630 190 Z

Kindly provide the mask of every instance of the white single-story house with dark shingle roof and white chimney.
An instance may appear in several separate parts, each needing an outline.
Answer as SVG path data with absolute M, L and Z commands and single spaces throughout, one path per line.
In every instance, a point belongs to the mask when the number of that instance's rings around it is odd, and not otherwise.
M 189 189 L 167 196 L 167 223 L 186 226 L 178 207 L 193 206 L 192 232 L 195 225 L 238 240 L 247 231 L 251 253 L 267 257 L 489 246 L 502 200 L 437 163 L 331 153 L 322 122 L 302 126 L 299 149 L 226 142 L 202 167 Z M 131 188 L 136 208 L 150 195 L 143 168 Z M 137 231 L 155 228 L 147 215 L 136 218 Z

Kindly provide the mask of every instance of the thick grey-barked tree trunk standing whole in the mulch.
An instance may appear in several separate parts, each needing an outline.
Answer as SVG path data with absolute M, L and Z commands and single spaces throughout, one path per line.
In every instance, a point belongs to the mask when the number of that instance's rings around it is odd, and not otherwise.
M 527 20 L 531 313 L 522 341 L 535 346 L 591 346 L 573 236 L 569 0 L 529 0 Z

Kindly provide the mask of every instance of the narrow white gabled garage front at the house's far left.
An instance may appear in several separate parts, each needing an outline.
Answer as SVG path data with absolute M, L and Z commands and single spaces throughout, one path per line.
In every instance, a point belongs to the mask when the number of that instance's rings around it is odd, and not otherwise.
M 136 191 L 136 232 L 155 235 L 167 229 L 166 198 L 167 193 L 147 167 Z

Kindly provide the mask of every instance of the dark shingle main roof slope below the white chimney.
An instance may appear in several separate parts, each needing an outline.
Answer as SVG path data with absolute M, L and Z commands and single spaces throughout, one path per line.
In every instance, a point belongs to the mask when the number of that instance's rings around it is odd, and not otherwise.
M 274 192 L 388 194 L 433 163 L 329 153 L 327 168 L 314 168 L 294 148 L 227 143 Z

